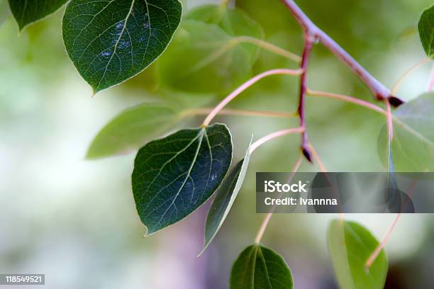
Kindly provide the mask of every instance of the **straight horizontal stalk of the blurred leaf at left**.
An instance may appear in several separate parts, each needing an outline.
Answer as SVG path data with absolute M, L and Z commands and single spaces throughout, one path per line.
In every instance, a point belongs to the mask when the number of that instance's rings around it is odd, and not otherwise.
M 191 108 L 183 111 L 181 116 L 191 115 L 208 115 L 213 111 L 213 108 Z M 218 114 L 220 115 L 241 115 L 241 116 L 265 116 L 271 118 L 291 118 L 296 116 L 296 113 L 284 113 L 281 111 L 247 111 L 238 109 L 222 109 Z

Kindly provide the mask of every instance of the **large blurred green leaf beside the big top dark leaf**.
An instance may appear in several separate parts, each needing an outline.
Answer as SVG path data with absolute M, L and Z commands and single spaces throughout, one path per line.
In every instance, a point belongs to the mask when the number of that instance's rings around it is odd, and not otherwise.
M 250 76 L 249 52 L 214 24 L 183 21 L 160 60 L 162 83 L 192 92 L 227 92 Z

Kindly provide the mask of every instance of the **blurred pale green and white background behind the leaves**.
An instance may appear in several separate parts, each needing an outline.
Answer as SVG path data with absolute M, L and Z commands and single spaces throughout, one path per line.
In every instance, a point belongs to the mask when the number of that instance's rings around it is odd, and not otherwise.
M 188 0 L 184 8 L 204 3 L 218 1 Z M 432 0 L 297 3 L 386 86 L 424 57 L 416 25 Z M 300 53 L 301 29 L 280 1 L 237 0 L 236 6 L 262 25 L 267 41 Z M 222 96 L 156 88 L 152 74 L 145 72 L 92 98 L 62 44 L 63 8 L 18 35 L 6 0 L 0 0 L 0 7 L 0 273 L 45 273 L 46 288 L 228 288 L 233 261 L 252 244 L 264 217 L 255 213 L 255 172 L 289 171 L 299 138 L 282 137 L 255 152 L 232 211 L 201 257 L 196 255 L 203 244 L 208 204 L 144 238 L 130 188 L 135 154 L 87 161 L 89 143 L 114 115 L 134 104 L 166 101 L 209 107 Z M 277 67 L 296 64 L 261 52 L 254 70 Z M 413 72 L 399 96 L 410 100 L 423 93 L 430 69 L 425 64 Z M 360 80 L 321 45 L 314 47 L 308 83 L 311 89 L 372 99 Z M 291 77 L 265 79 L 230 107 L 295 111 L 296 84 Z M 377 154 L 381 115 L 319 98 L 308 98 L 307 111 L 311 142 L 329 171 L 384 171 Z M 218 120 L 233 132 L 235 157 L 252 133 L 257 138 L 296 125 L 296 119 Z M 306 162 L 301 166 L 301 171 L 316 170 Z M 284 256 L 296 288 L 337 288 L 325 242 L 334 217 L 272 217 L 262 242 Z M 360 221 L 380 239 L 394 215 L 347 218 Z M 386 288 L 432 288 L 433 220 L 431 215 L 401 218 L 386 246 Z

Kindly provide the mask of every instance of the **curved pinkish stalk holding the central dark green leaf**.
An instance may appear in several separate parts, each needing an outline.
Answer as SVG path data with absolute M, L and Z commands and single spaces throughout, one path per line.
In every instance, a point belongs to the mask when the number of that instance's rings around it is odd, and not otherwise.
M 221 101 L 221 103 L 218 103 L 218 105 L 211 111 L 211 113 L 206 116 L 204 120 L 203 125 L 209 125 L 211 120 L 228 104 L 230 101 L 233 100 L 233 98 L 237 97 L 239 94 L 241 94 L 243 91 L 248 89 L 250 86 L 255 84 L 257 81 L 260 81 L 260 79 L 263 79 L 265 77 L 269 77 L 270 75 L 276 75 L 276 74 L 286 74 L 286 75 L 299 75 L 301 74 L 301 70 L 293 70 L 293 69 L 272 69 L 267 70 L 266 72 L 262 72 L 261 74 L 257 74 L 257 76 L 252 77 L 251 79 L 247 80 L 244 84 L 241 84 L 241 86 L 238 87 L 238 89 L 235 89 L 232 93 L 230 93 L 226 98 Z

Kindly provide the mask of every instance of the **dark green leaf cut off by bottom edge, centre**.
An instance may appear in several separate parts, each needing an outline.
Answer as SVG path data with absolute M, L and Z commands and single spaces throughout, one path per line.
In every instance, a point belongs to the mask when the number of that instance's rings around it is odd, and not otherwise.
M 255 244 L 241 252 L 230 273 L 230 289 L 291 289 L 292 274 L 276 252 Z

